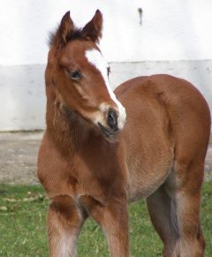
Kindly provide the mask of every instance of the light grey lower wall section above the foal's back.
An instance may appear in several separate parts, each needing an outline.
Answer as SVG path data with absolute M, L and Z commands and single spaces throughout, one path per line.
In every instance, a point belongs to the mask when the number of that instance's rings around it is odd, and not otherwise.
M 134 77 L 167 73 L 193 83 L 205 96 L 212 110 L 212 60 L 111 63 L 110 66 L 110 83 L 113 88 Z

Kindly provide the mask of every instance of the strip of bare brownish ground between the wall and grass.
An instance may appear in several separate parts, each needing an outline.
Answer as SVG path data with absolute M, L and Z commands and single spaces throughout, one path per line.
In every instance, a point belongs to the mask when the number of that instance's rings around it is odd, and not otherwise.
M 43 132 L 0 133 L 0 184 L 38 184 L 37 153 Z M 205 164 L 205 180 L 212 180 L 212 137 Z

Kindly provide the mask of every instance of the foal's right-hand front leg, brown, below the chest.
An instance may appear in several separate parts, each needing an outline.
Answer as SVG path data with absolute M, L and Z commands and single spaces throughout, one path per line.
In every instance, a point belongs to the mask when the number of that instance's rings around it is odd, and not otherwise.
M 110 247 L 111 257 L 129 257 L 128 214 L 126 200 L 110 200 L 101 205 L 91 197 L 84 197 L 83 205 L 89 215 L 100 224 Z

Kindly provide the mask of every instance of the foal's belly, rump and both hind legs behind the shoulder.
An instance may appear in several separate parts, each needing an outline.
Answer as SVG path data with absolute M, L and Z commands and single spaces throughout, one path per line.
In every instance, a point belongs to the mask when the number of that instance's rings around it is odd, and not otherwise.
M 163 256 L 203 256 L 200 205 L 210 133 L 207 103 L 186 80 L 168 75 L 126 81 L 117 94 L 127 110 L 122 137 L 129 199 L 147 197 Z

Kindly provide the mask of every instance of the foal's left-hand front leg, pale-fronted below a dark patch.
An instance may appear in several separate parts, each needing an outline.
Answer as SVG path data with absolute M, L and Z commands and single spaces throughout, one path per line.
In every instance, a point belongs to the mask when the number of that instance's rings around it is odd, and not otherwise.
M 76 241 L 85 220 L 70 196 L 57 196 L 51 200 L 48 212 L 50 257 L 70 257 L 76 254 Z

